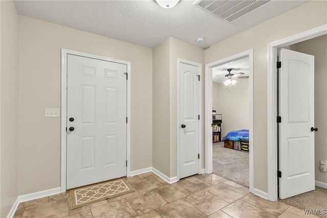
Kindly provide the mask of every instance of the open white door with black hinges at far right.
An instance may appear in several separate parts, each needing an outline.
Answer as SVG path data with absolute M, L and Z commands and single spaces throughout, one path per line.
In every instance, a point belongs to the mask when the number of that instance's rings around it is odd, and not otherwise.
M 279 53 L 279 198 L 315 189 L 314 56 Z

